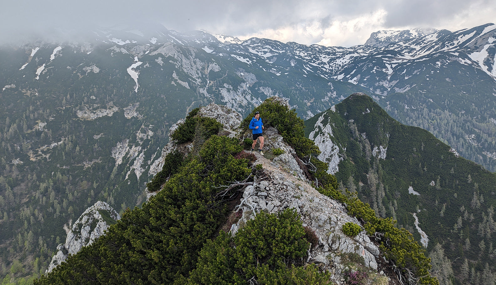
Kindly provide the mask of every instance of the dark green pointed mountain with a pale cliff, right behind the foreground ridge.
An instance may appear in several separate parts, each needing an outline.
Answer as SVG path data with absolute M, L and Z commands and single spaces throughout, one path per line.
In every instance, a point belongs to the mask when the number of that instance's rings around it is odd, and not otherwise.
M 432 256 L 443 250 L 453 270 L 437 275 L 441 284 L 453 276 L 454 284 L 485 284 L 482 276 L 494 282 L 496 174 L 426 130 L 400 124 L 365 94 L 350 95 L 306 126 L 310 139 L 328 149 L 319 159 L 333 162 L 328 173 L 342 189 L 398 220 Z M 450 266 L 443 258 L 437 256 L 437 267 L 433 260 L 433 271 Z

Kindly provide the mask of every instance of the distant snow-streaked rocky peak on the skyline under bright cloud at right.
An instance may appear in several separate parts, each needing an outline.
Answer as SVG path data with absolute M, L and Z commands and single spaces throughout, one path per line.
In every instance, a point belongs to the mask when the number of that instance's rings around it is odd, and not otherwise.
M 408 41 L 418 37 L 424 37 L 437 32 L 433 28 L 413 28 L 408 30 L 381 30 L 373 32 L 365 45 L 372 47 L 386 47 L 390 44 Z

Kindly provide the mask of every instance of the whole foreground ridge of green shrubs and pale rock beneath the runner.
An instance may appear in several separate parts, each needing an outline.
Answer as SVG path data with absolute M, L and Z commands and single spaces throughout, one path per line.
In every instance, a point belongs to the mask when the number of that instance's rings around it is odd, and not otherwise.
M 280 98 L 267 99 L 259 106 L 260 113 L 268 118 L 275 108 L 282 110 L 279 117 L 290 117 L 292 112 L 281 102 Z M 378 239 L 371 241 L 369 232 L 347 214 L 346 207 L 300 176 L 308 169 L 285 161 L 301 158 L 271 123 L 265 123 L 267 143 L 284 150 L 289 154 L 286 158 L 281 158 L 284 153 L 276 156 L 266 151 L 265 156 L 255 156 L 243 151 L 240 139 L 249 135 L 243 127 L 227 127 L 231 132 L 219 128 L 220 133 L 236 133 L 235 138 L 204 137 L 201 130 L 211 123 L 211 117 L 223 117 L 222 121 L 231 122 L 227 125 L 239 126 L 241 120 L 233 113 L 213 104 L 190 112 L 173 133 L 192 131 L 193 139 L 169 142 L 168 148 L 175 148 L 164 161 L 169 179 L 156 195 L 142 208 L 124 213 L 106 235 L 35 284 L 344 284 L 345 280 L 400 284 L 398 279 L 408 276 L 409 271 L 396 259 L 399 255 L 391 255 L 388 248 L 402 238 L 393 235 L 385 241 L 375 233 Z M 183 127 L 190 120 L 203 123 L 197 123 L 195 130 Z M 300 123 L 293 132 L 296 137 L 303 137 Z M 178 152 L 182 161 L 175 163 L 172 157 Z M 169 168 L 171 163 L 176 167 Z M 333 186 L 325 189 L 333 190 Z M 422 252 L 417 260 L 425 260 Z M 391 269 L 393 261 L 398 261 L 395 268 L 401 270 Z M 408 269 L 422 273 L 428 264 L 420 264 L 412 261 Z M 438 283 L 426 275 L 420 277 L 420 284 Z

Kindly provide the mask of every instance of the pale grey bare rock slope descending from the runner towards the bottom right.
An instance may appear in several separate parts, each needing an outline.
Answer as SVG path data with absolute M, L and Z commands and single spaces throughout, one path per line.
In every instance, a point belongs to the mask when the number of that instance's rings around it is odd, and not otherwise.
M 376 258 L 380 252 L 366 232 L 362 231 L 356 237 L 343 233 L 345 223 L 359 224 L 356 218 L 347 214 L 343 205 L 320 194 L 296 172 L 290 174 L 278 163 L 256 155 L 255 163 L 263 165 L 268 178 L 257 180 L 244 190 L 242 201 L 235 209 L 242 209 L 243 215 L 237 224 L 232 225 L 233 235 L 260 211 L 276 213 L 293 208 L 301 215 L 303 225 L 309 226 L 319 238 L 318 246 L 309 251 L 308 262 L 331 271 L 336 284 L 343 284 L 347 271 L 345 262 L 341 263 L 343 254 L 357 254 L 364 258 L 365 266 L 377 270 Z

